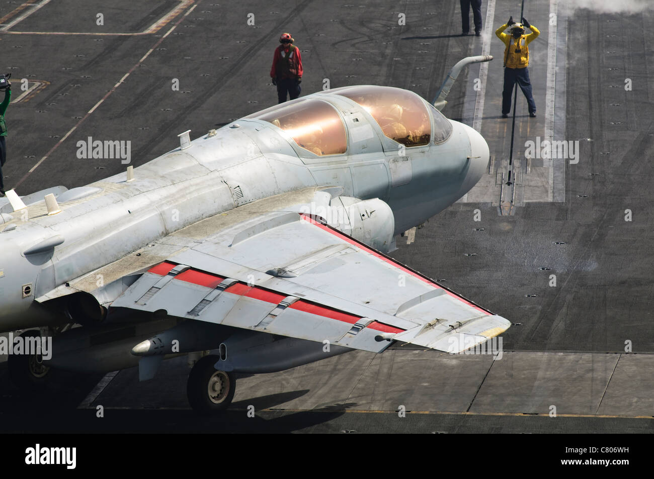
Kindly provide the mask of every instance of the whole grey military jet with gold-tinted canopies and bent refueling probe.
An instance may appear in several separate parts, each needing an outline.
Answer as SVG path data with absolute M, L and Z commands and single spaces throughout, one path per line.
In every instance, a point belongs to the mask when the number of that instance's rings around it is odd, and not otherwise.
M 488 59 L 459 62 L 436 105 Z M 191 353 L 188 399 L 209 414 L 237 373 L 393 342 L 461 352 L 509 327 L 386 256 L 489 163 L 479 133 L 419 95 L 347 86 L 179 136 L 126 173 L 0 203 L 0 331 L 52 337 L 49 359 L 10 355 L 16 383 L 135 365 L 148 380 Z

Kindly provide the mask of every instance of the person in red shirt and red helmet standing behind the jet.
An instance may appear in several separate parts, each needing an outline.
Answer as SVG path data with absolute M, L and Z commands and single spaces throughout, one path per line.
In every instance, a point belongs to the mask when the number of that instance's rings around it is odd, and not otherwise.
M 287 93 L 292 100 L 300 96 L 302 58 L 300 48 L 294 46 L 294 39 L 290 33 L 282 33 L 279 42 L 281 45 L 275 48 L 270 78 L 273 80 L 273 85 L 277 85 L 279 103 L 284 103 Z

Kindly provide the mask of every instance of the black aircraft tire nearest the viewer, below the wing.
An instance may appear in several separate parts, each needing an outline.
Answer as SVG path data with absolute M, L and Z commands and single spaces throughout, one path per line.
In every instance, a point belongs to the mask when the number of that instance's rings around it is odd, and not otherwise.
M 233 372 L 217 371 L 213 365 L 218 359 L 218 355 L 204 356 L 188 374 L 186 397 L 193 410 L 201 416 L 226 410 L 232 404 L 236 376 Z

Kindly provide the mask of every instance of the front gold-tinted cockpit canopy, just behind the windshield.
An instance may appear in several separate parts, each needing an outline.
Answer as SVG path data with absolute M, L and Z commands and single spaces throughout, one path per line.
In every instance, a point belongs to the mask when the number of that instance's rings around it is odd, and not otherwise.
M 342 95 L 361 105 L 381 127 L 384 135 L 405 146 L 429 144 L 432 124 L 421 97 L 412 91 L 385 86 L 338 88 Z

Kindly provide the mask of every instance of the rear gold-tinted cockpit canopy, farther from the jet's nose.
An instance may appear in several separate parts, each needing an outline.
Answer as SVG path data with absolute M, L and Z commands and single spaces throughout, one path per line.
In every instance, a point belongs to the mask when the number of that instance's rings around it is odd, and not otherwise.
M 269 112 L 264 110 L 264 114 L 257 114 L 256 118 L 283 129 L 298 146 L 318 156 L 343 154 L 347 150 L 343 120 L 325 101 L 298 101 L 270 108 Z

